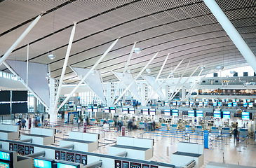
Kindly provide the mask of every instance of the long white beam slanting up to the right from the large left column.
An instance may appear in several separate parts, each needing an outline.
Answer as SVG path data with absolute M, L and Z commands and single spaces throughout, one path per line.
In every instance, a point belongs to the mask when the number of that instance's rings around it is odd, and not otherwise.
M 86 78 L 90 75 L 90 73 L 96 68 L 96 66 L 98 64 L 100 64 L 100 62 L 102 61 L 102 59 L 107 55 L 107 53 L 109 53 L 109 51 L 114 47 L 114 45 L 116 44 L 116 42 L 119 41 L 119 39 L 116 39 L 114 41 L 114 43 L 112 43 L 112 45 L 109 46 L 109 48 L 104 52 L 104 54 L 100 57 L 100 59 L 97 60 L 97 62 L 93 65 L 93 67 L 90 69 L 90 71 L 88 71 L 88 73 L 86 73 L 86 76 L 83 76 L 83 78 L 80 80 L 80 82 L 76 85 L 76 87 L 74 87 L 74 89 L 72 90 L 72 92 L 69 93 L 69 95 L 66 97 L 66 99 L 62 102 L 62 104 L 60 104 L 60 106 L 58 107 L 58 111 L 60 110 L 60 108 L 62 108 L 62 106 L 69 100 L 70 97 L 72 97 L 72 94 L 74 94 L 74 92 L 76 92 L 76 90 L 79 88 L 79 86 L 84 83 L 84 81 L 86 80 Z

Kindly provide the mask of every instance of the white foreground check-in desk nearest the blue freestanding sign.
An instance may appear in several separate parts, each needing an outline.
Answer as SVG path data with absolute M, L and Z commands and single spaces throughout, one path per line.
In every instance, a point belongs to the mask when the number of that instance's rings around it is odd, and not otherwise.
M 177 167 L 185 167 L 191 160 L 195 160 L 195 167 L 198 168 L 203 166 L 203 157 L 203 145 L 179 142 L 177 152 L 172 155 L 171 164 Z

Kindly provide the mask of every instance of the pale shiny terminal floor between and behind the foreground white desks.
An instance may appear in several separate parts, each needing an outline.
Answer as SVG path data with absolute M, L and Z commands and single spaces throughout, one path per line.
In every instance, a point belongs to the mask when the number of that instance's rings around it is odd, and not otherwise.
M 2 122 L 2 123 L 13 123 L 13 122 Z M 83 132 L 83 127 L 78 128 L 77 125 L 60 125 L 56 127 L 57 135 L 56 142 L 53 146 L 58 146 L 58 140 L 68 138 L 70 131 Z M 29 130 L 25 128 L 21 130 L 21 133 L 28 133 Z M 87 132 L 95 132 L 100 134 L 99 148 L 95 153 L 108 153 L 108 146 L 115 144 L 116 137 L 120 136 L 120 132 L 116 132 L 114 128 L 108 130 L 102 127 L 87 127 Z M 154 131 L 145 132 L 144 130 L 133 130 L 132 132 L 126 131 L 128 137 L 143 137 L 154 139 L 154 157 L 150 160 L 157 162 L 171 163 L 171 155 L 177 151 L 177 142 L 179 141 L 190 141 L 198 144 L 203 144 L 203 137 L 198 134 L 187 134 L 182 132 L 169 132 Z M 209 148 L 204 149 L 204 165 L 206 167 L 208 162 L 221 162 L 234 165 L 243 165 L 256 167 L 256 142 L 252 138 L 245 139 L 241 138 L 241 142 L 234 144 L 233 137 L 220 137 L 210 134 Z

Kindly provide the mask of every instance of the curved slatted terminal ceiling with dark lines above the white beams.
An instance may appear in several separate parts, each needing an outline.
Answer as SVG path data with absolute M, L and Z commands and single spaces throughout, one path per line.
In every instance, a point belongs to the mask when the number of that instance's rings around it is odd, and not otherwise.
M 256 54 L 256 1 L 217 0 L 218 5 Z M 211 11 L 201 0 L 37 0 L 0 1 L 0 56 L 22 34 L 38 15 L 41 19 L 22 40 L 8 59 L 50 64 L 51 76 L 60 78 L 73 22 L 76 32 L 68 65 L 90 69 L 117 38 L 119 41 L 96 67 L 102 80 L 118 80 L 112 71 L 122 72 L 133 43 L 142 48 L 133 53 L 128 69 L 137 75 L 156 52 L 159 55 L 148 66 L 157 76 L 170 53 L 161 78 L 182 60 L 175 71 L 190 76 L 197 66 L 205 66 L 202 74 L 247 64 Z M 48 55 L 56 55 L 49 59 Z M 197 76 L 200 68 L 194 73 Z M 8 71 L 2 64 L 0 71 Z M 78 83 L 79 78 L 67 67 L 65 83 Z

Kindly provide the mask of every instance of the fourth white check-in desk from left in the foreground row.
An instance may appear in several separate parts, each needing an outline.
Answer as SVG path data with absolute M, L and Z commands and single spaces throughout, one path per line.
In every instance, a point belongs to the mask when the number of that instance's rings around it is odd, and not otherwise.
M 116 145 L 109 146 L 109 155 L 127 152 L 127 158 L 149 160 L 153 157 L 153 139 L 117 137 Z

